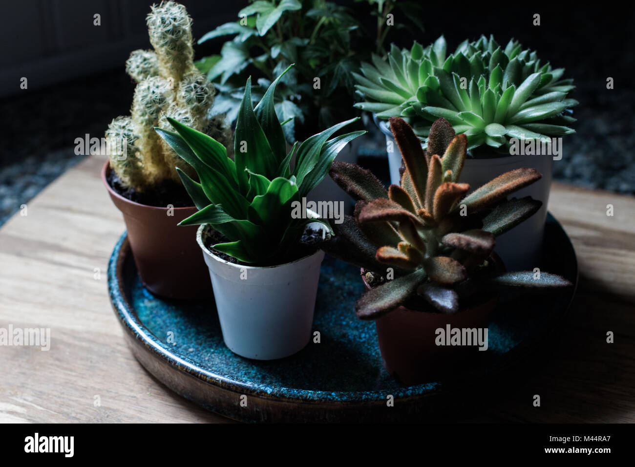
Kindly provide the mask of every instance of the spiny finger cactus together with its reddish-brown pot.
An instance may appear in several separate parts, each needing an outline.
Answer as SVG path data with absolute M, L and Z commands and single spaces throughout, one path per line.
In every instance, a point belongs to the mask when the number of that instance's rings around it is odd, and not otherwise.
M 215 89 L 194 67 L 191 24 L 181 4 L 152 6 L 147 25 L 154 50 L 133 51 L 126 62 L 126 71 L 137 82 L 131 116 L 110 123 L 109 161 L 102 170 L 110 198 L 123 213 L 145 287 L 181 299 L 211 292 L 209 282 L 201 280 L 206 268 L 196 245 L 196 228 L 177 227 L 196 212 L 177 168 L 194 172 L 154 127 L 167 128 L 173 118 L 223 144 L 231 140 L 222 119 L 208 117 Z

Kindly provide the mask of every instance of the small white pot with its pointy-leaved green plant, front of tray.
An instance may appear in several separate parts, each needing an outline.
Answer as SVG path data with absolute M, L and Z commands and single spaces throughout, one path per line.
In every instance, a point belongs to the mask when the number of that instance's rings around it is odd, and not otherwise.
M 180 225 L 201 224 L 196 239 L 209 267 L 225 344 L 258 360 L 292 355 L 309 342 L 324 253 L 302 240 L 323 238 L 328 222 L 298 206 L 326 176 L 337 153 L 365 133 L 331 138 L 356 120 L 350 119 L 299 146 L 296 142 L 287 152 L 274 109 L 281 76 L 255 109 L 247 79 L 237 116 L 235 160 L 222 144 L 175 119 L 169 121 L 176 133 L 157 129 L 200 180 L 177 169 L 199 209 Z M 307 226 L 312 228 L 307 231 Z

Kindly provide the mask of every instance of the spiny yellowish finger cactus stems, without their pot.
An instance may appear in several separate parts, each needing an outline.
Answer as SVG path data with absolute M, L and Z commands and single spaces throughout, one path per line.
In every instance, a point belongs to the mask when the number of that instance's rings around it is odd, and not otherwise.
M 231 146 L 233 141 L 223 116 L 210 117 L 216 90 L 194 66 L 192 18 L 185 7 L 174 1 L 153 5 L 147 26 L 154 50 L 135 50 L 126 61 L 126 72 L 137 82 L 131 116 L 114 119 L 106 132 L 109 139 L 133 145 L 125 155 L 110 151 L 110 167 L 124 187 L 138 192 L 164 180 L 180 184 L 177 167 L 195 176 L 154 131 L 157 126 L 171 128 L 167 118 L 222 144 Z

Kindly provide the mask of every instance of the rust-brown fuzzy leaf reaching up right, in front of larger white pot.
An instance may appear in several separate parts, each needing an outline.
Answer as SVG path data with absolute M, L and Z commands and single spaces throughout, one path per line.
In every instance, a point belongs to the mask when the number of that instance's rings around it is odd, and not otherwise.
M 474 190 L 461 204 L 467 206 L 469 212 L 476 212 L 503 200 L 514 191 L 525 188 L 540 177 L 540 172 L 533 168 L 510 170 Z

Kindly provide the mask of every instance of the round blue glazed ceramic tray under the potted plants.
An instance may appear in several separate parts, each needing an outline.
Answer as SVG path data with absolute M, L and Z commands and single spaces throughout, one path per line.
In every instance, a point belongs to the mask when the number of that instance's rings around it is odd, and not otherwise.
M 575 252 L 551 215 L 543 256 L 542 270 L 577 284 Z M 321 342 L 271 362 L 248 360 L 225 347 L 213 299 L 171 301 L 148 292 L 138 278 L 126 234 L 110 257 L 108 284 L 130 348 L 151 374 L 206 409 L 252 422 L 424 419 L 443 404 L 460 401 L 460 388 L 486 385 L 539 347 L 575 294 L 574 287 L 529 301 L 508 299 L 498 307 L 489 327 L 490 349 L 478 352 L 478 362 L 452 372 L 453 379 L 404 387 L 382 367 L 375 325 L 354 314 L 353 304 L 364 288 L 359 269 L 328 256 L 314 319 Z

